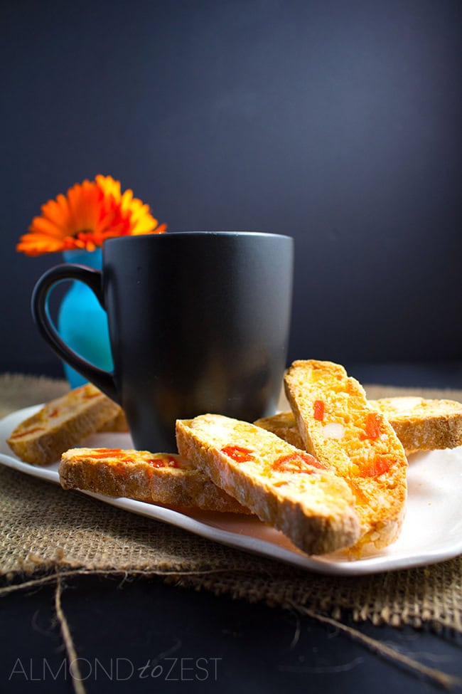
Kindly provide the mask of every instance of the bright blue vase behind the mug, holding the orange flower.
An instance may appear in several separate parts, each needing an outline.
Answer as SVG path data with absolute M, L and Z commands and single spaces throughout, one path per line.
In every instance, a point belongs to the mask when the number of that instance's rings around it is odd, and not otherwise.
M 102 251 L 64 251 L 66 263 L 78 263 L 101 270 Z M 95 294 L 82 282 L 73 281 L 58 310 L 58 332 L 63 340 L 81 357 L 106 371 L 112 371 L 109 329 L 106 312 Z M 65 377 L 71 388 L 87 379 L 63 362 Z

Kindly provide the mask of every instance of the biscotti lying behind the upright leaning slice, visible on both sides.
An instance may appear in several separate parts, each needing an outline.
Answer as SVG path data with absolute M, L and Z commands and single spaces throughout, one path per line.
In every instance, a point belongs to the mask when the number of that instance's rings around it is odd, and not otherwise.
M 388 419 L 407 455 L 415 451 L 436 451 L 462 446 L 460 402 L 397 396 L 370 400 L 369 404 Z M 254 424 L 272 431 L 297 448 L 304 448 L 291 411 L 257 419 Z

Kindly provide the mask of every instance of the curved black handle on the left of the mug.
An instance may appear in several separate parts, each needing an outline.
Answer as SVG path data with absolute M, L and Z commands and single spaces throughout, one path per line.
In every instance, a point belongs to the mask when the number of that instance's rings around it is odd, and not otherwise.
M 70 364 L 71 367 L 95 384 L 110 399 L 118 402 L 119 398 L 115 387 L 114 373 L 95 367 L 87 359 L 80 357 L 79 354 L 66 345 L 55 328 L 50 316 L 48 298 L 53 287 L 63 280 L 78 280 L 86 284 L 95 293 L 97 300 L 104 309 L 102 273 L 100 270 L 94 270 L 93 268 L 87 268 L 86 265 L 76 265 L 74 263 L 56 265 L 55 268 L 51 268 L 43 273 L 33 288 L 31 310 L 38 331 L 60 359 Z

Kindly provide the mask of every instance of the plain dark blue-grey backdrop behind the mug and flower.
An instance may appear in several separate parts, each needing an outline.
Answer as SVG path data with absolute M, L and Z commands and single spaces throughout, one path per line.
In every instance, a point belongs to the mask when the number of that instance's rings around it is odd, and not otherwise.
M 0 371 L 61 376 L 15 244 L 110 174 L 296 239 L 289 360 L 462 358 L 460 0 L 1 0 Z

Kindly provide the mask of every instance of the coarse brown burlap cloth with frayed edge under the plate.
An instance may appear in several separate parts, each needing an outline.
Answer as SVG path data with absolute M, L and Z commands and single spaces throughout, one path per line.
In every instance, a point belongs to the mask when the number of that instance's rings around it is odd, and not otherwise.
M 65 382 L 4 375 L 0 413 L 62 394 Z M 372 397 L 462 391 L 367 387 Z M 166 579 L 248 601 L 296 605 L 393 626 L 462 631 L 462 556 L 418 569 L 324 577 L 232 550 L 0 466 L 0 572 L 4 583 L 68 571 Z

